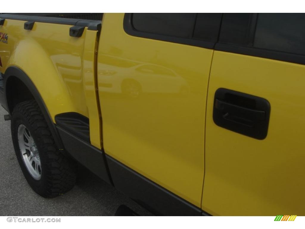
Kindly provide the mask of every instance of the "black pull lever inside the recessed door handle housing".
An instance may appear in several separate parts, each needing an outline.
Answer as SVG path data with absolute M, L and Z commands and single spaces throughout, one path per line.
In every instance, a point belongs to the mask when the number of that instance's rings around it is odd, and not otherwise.
M 265 111 L 230 104 L 219 99 L 215 99 L 215 108 L 224 113 L 222 116 L 224 119 L 249 127 L 252 127 L 257 121 L 263 121 L 266 113 Z

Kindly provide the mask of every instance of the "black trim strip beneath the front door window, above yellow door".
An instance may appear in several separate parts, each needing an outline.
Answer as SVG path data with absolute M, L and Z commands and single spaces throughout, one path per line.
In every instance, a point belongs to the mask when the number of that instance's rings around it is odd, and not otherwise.
M 295 64 L 305 64 L 305 56 L 293 53 L 283 53 L 267 49 L 258 49 L 253 47 L 222 43 L 217 43 L 215 45 L 215 50 L 228 53 L 243 54 L 248 56 L 257 56 L 272 60 L 280 60 Z

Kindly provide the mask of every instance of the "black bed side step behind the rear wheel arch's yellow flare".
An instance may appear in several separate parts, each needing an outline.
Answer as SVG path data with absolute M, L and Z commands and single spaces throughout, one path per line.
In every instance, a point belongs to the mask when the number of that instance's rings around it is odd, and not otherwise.
M 56 125 L 71 134 L 90 143 L 89 119 L 75 112 L 67 112 L 55 116 Z

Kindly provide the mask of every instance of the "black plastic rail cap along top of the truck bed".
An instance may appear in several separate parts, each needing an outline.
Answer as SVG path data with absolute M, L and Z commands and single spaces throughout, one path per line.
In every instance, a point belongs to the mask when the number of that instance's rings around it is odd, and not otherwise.
M 16 14 L 1 14 L 1 18 L 10 19 L 10 20 L 52 23 L 52 24 L 85 26 L 88 27 L 88 30 L 97 30 L 97 31 L 100 31 L 101 29 L 100 20 L 80 20 L 73 18 L 27 16 L 27 15 L 16 15 Z

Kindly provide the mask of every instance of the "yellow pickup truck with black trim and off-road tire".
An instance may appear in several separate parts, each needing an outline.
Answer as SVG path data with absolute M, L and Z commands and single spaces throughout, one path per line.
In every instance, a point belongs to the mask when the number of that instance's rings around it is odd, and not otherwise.
M 76 162 L 156 215 L 305 215 L 305 14 L 0 14 L 0 102 L 38 194 Z

